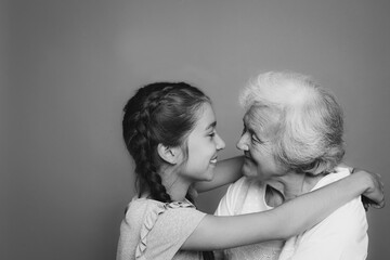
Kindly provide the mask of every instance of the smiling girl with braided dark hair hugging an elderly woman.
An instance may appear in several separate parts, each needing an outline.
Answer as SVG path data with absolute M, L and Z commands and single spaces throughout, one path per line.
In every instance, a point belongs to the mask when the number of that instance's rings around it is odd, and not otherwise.
M 202 188 L 209 190 L 233 181 L 242 161 L 217 167 L 225 144 L 216 126 L 210 99 L 183 82 L 152 83 L 128 101 L 123 139 L 135 162 L 139 194 L 120 226 L 117 260 L 208 259 L 208 250 L 286 239 L 360 194 L 384 206 L 379 178 L 360 171 L 265 212 L 200 212 L 193 205 L 193 185 L 208 181 Z

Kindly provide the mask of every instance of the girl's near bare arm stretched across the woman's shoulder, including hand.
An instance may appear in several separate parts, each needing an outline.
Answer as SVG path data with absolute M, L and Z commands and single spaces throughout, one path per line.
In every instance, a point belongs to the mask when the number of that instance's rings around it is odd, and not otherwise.
M 359 195 L 385 206 L 380 177 L 359 171 L 282 206 L 259 213 L 233 217 L 207 214 L 181 249 L 213 250 L 273 239 L 286 239 L 311 229 Z

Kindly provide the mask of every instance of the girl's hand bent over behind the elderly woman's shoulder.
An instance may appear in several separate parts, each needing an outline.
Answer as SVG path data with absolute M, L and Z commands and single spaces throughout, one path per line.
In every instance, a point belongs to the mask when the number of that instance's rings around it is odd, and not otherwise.
M 370 206 L 374 208 L 385 207 L 385 190 L 380 174 L 372 173 L 362 169 L 354 169 L 353 174 L 361 174 L 368 187 L 362 194 L 362 203 L 367 211 Z

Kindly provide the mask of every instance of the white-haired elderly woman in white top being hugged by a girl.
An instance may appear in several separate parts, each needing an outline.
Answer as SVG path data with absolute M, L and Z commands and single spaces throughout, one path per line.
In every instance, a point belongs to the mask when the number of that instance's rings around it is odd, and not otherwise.
M 216 214 L 263 211 L 350 174 L 344 154 L 342 110 L 310 77 L 259 75 L 240 95 L 243 177 L 221 199 Z M 367 221 L 360 197 L 313 229 L 287 242 L 224 250 L 227 259 L 359 260 L 367 256 Z

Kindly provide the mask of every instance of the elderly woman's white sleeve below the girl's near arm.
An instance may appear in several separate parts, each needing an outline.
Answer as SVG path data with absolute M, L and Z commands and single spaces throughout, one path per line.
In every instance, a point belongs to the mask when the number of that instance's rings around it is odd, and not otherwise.
M 366 259 L 367 229 L 368 224 L 361 198 L 354 198 L 299 236 L 298 245 L 295 246 L 295 252 L 289 259 Z

